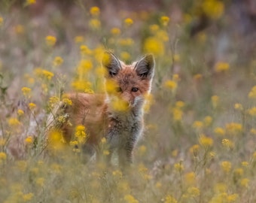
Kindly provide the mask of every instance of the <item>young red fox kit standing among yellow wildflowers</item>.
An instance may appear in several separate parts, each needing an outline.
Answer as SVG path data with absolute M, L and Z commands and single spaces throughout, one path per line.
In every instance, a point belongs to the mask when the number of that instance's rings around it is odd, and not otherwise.
M 143 130 L 143 104 L 151 91 L 154 76 L 154 57 L 145 55 L 138 62 L 126 65 L 113 53 L 105 52 L 105 95 L 69 93 L 72 105 L 59 105 L 53 114 L 69 118 L 59 126 L 66 142 L 72 140 L 75 126 L 85 126 L 87 145 L 97 146 L 102 138 L 108 144 L 109 157 L 117 150 L 119 165 L 133 162 L 133 148 Z M 55 115 L 56 116 L 56 115 Z M 54 117 L 54 115 L 53 115 Z M 53 120 L 50 121 L 52 126 Z

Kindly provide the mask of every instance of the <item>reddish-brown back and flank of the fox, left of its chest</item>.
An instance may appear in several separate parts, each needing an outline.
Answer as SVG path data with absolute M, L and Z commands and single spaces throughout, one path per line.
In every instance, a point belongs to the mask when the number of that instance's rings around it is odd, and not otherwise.
M 75 126 L 82 125 L 86 127 L 87 143 L 98 143 L 102 135 L 105 135 L 108 126 L 105 95 L 79 92 L 69 93 L 66 96 L 72 101 L 72 105 L 65 110 L 65 114 L 69 115 L 72 126 L 65 125 L 62 128 L 66 141 L 68 143 L 71 141 Z

